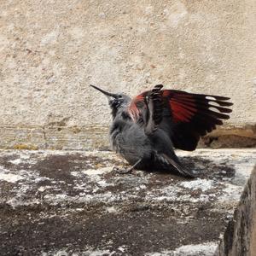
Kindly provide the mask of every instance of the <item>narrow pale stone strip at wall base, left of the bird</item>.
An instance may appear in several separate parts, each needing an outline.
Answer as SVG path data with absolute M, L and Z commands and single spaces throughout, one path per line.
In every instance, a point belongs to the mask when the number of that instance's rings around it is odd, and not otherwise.
M 0 148 L 16 149 L 108 149 L 108 127 L 0 126 Z

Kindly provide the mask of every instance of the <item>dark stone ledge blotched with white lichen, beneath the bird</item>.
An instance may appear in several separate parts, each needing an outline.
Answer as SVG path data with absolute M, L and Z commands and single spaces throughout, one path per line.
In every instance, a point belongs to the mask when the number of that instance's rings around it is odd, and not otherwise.
M 250 255 L 255 149 L 178 152 L 196 179 L 111 152 L 0 151 L 4 255 Z

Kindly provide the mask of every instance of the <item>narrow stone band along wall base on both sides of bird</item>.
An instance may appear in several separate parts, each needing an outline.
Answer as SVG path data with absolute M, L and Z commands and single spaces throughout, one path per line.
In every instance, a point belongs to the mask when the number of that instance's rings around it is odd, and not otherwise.
M 0 148 L 108 150 L 108 126 L 0 126 Z M 255 125 L 222 126 L 201 139 L 199 148 L 252 148 Z

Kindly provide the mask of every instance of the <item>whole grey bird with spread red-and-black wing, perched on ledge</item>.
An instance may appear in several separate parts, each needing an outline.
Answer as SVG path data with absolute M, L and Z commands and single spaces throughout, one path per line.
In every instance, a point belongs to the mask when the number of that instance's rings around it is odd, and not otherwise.
M 178 160 L 174 148 L 195 150 L 200 137 L 229 119 L 233 103 L 229 97 L 188 93 L 183 90 L 154 89 L 133 99 L 114 94 L 95 85 L 91 87 L 108 96 L 113 123 L 110 126 L 112 148 L 125 158 L 131 168 L 119 172 L 167 170 L 194 177 Z

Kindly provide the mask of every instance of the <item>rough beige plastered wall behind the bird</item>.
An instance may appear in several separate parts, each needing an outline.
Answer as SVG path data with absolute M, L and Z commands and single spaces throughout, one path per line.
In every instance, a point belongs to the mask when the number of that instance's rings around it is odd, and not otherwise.
M 255 13 L 254 0 L 1 1 L 0 147 L 106 146 L 108 104 L 89 84 L 230 96 L 227 134 L 255 138 Z

